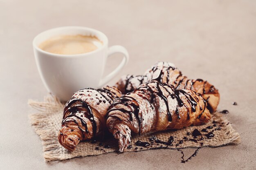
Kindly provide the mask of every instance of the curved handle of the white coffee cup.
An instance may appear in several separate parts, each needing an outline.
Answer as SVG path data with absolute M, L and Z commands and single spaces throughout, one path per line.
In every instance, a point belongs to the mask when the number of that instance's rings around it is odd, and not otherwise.
M 115 77 L 115 75 L 117 75 L 117 73 L 119 73 L 119 71 L 128 63 L 129 60 L 129 54 L 128 51 L 126 50 L 126 48 L 124 48 L 123 46 L 120 45 L 114 45 L 114 46 L 110 46 L 108 48 L 108 57 L 114 53 L 121 53 L 123 54 L 123 60 L 121 61 L 121 63 L 117 66 L 117 68 L 115 70 L 113 70 L 111 73 L 109 73 L 106 77 L 104 77 L 103 79 L 101 79 L 101 81 L 99 82 L 99 87 L 103 86 L 104 84 L 106 84 L 108 81 L 110 81 L 110 79 L 112 79 L 113 77 Z

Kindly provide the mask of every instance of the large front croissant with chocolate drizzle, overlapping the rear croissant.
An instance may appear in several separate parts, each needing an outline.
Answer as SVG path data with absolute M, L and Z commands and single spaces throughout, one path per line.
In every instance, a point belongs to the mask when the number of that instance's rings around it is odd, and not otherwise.
M 148 82 L 113 102 L 107 113 L 107 128 L 119 141 L 119 151 L 127 149 L 131 132 L 181 129 L 201 125 L 211 119 L 207 100 L 192 90 Z

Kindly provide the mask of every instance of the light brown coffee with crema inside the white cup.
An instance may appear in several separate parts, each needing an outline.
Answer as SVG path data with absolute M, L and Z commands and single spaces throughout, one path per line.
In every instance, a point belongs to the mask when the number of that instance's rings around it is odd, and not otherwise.
M 55 54 L 82 54 L 99 49 L 103 43 L 94 36 L 60 35 L 49 38 L 38 47 L 43 51 Z

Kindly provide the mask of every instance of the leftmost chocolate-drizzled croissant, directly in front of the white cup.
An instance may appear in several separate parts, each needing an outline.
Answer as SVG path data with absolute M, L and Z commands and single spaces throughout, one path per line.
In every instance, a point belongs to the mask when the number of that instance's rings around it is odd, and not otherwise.
M 92 139 L 106 129 L 106 113 L 112 102 L 122 94 L 116 87 L 95 90 L 84 88 L 72 96 L 64 108 L 59 143 L 73 151 L 80 141 Z

